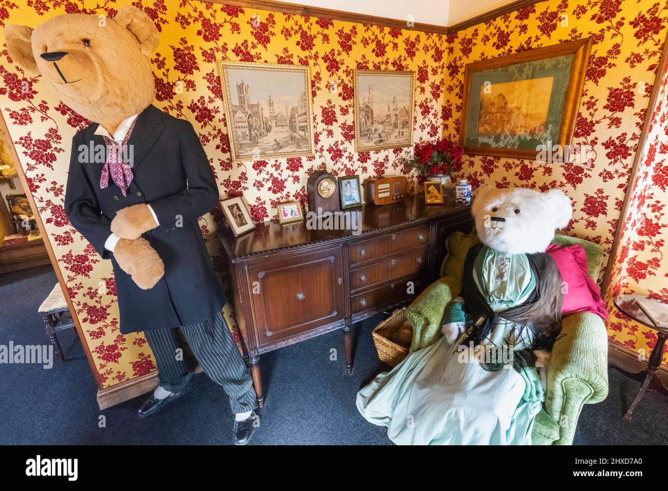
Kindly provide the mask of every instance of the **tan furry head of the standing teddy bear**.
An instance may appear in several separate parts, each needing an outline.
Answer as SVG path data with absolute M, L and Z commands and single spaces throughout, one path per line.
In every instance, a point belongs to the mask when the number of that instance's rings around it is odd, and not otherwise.
M 132 6 L 120 9 L 114 19 L 67 13 L 35 29 L 5 28 L 15 63 L 41 73 L 67 106 L 112 132 L 153 102 L 148 56 L 158 42 L 154 22 Z

